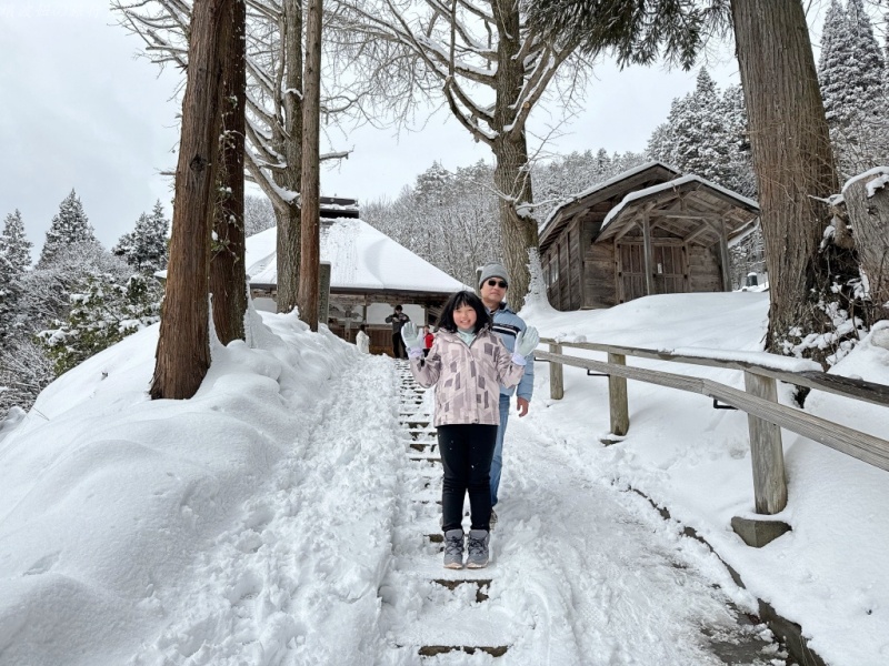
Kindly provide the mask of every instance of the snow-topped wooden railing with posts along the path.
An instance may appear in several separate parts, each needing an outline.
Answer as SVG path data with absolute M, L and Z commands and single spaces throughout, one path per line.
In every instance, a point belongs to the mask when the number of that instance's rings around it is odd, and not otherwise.
M 763 363 L 763 354 L 732 352 L 713 353 L 701 350 L 682 350 L 681 353 L 649 349 L 596 344 L 589 342 L 561 342 L 542 339 L 549 352 L 535 352 L 535 357 L 550 363 L 550 397 L 561 400 L 565 395 L 563 366 L 583 367 L 608 375 L 608 395 L 611 415 L 611 432 L 626 435 L 630 427 L 627 396 L 627 380 L 668 386 L 698 393 L 719 401 L 748 415 L 750 452 L 753 466 L 753 492 L 756 513 L 776 514 L 787 505 L 787 481 L 785 478 L 781 428 L 787 428 L 881 470 L 889 471 L 889 442 L 848 426 L 820 418 L 800 410 L 778 403 L 777 382 L 826 391 L 852 400 L 889 406 L 889 386 L 829 375 L 815 370 L 782 370 L 788 359 L 775 356 L 775 363 Z M 603 352 L 608 362 L 595 361 L 563 353 L 566 347 Z M 745 391 L 705 380 L 662 371 L 627 365 L 627 356 L 652 359 L 691 365 L 706 365 L 743 372 Z M 756 357 L 753 357 L 756 356 Z M 805 365 L 805 363 L 800 363 Z

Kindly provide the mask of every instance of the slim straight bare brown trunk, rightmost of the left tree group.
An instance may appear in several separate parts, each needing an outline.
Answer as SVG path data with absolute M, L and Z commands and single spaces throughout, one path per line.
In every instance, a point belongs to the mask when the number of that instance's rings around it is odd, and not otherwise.
M 309 0 L 306 26 L 306 74 L 302 94 L 301 256 L 299 316 L 318 331 L 320 245 L 321 1 Z M 321 322 L 327 324 L 327 322 Z

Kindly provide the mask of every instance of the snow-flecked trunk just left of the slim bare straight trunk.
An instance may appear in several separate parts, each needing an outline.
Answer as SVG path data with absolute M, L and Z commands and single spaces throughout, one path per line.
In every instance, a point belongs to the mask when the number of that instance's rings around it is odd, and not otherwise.
M 284 67 L 281 123 L 272 130 L 272 143 L 284 158 L 284 168 L 274 171 L 274 182 L 288 192 L 302 186 L 302 1 L 282 2 L 284 21 L 281 41 Z M 278 219 L 278 312 L 290 312 L 299 300 L 300 205 L 299 199 L 276 206 Z

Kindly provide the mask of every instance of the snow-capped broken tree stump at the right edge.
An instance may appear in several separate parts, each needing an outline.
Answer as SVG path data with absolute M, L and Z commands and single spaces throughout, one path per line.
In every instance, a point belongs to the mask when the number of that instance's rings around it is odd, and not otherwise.
M 869 182 L 881 178 L 886 174 L 860 178 L 842 193 L 861 271 L 868 280 L 873 321 L 889 319 L 889 185 L 875 189 L 870 198 L 867 191 Z

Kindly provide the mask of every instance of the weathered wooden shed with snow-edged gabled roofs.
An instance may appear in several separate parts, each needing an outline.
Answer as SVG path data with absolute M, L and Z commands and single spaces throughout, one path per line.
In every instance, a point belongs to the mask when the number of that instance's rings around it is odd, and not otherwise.
M 649 162 L 555 209 L 540 233 L 553 307 L 610 307 L 662 293 L 730 291 L 729 242 L 757 203 L 695 174 Z

